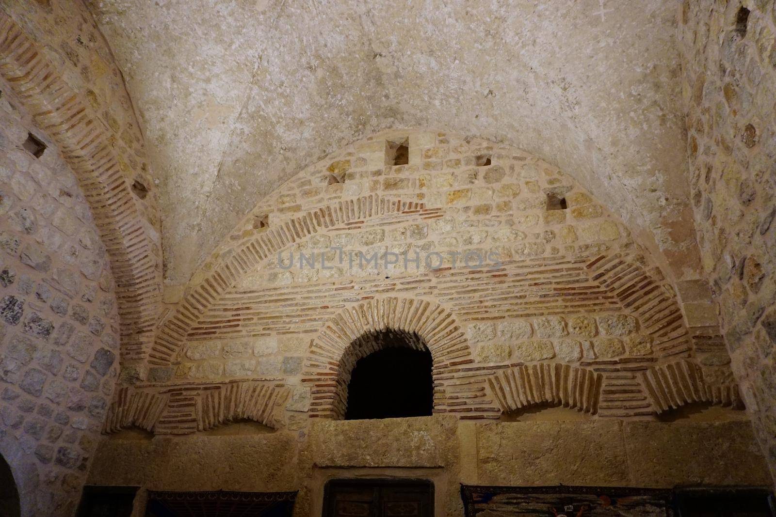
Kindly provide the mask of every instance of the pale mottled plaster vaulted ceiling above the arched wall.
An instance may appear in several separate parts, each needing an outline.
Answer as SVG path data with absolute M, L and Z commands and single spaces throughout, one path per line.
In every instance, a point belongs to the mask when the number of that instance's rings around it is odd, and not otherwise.
M 696 271 L 674 0 L 88 0 L 160 181 L 182 284 L 304 165 L 388 127 L 558 165 Z

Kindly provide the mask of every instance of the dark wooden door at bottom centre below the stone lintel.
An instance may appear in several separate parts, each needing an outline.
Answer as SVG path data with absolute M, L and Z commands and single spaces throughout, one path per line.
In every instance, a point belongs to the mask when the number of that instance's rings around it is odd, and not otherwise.
M 324 517 L 431 517 L 434 486 L 414 480 L 332 480 Z

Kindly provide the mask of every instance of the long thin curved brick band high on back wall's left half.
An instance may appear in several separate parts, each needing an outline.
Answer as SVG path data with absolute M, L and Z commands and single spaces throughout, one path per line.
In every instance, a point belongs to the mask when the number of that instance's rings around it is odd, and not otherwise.
M 319 229 L 380 215 L 424 211 L 438 212 L 439 209 L 427 210 L 421 202 L 384 198 L 377 194 L 365 195 L 303 212 L 258 233 L 232 251 L 229 257 L 223 258 L 214 271 L 192 288 L 175 313 L 166 319 L 154 342 L 149 363 L 159 366 L 171 364 L 181 352 L 186 334 L 210 305 L 241 277 L 287 246 L 318 233 Z

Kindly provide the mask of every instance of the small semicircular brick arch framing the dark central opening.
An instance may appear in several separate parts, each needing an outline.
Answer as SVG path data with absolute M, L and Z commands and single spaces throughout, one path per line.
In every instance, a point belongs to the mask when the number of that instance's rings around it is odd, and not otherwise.
M 433 360 L 434 411 L 449 411 L 442 407 L 449 402 L 448 381 L 461 365 L 473 363 L 466 333 L 452 313 L 436 302 L 390 296 L 345 308 L 310 343 L 303 382 L 312 391 L 311 417 L 345 416 L 355 362 L 379 349 L 380 342 L 372 338 L 383 331 L 407 336 L 410 346 L 428 347 Z M 469 406 L 477 404 L 471 398 L 463 405 L 471 411 Z

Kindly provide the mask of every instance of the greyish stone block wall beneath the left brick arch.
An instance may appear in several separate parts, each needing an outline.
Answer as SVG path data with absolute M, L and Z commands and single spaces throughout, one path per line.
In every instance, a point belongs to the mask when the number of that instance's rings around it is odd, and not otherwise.
M 23 515 L 72 515 L 117 377 L 113 277 L 73 172 L 0 91 L 0 453 Z

